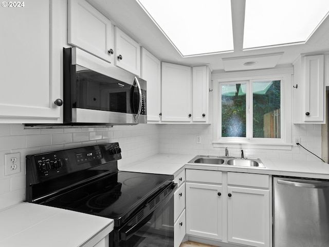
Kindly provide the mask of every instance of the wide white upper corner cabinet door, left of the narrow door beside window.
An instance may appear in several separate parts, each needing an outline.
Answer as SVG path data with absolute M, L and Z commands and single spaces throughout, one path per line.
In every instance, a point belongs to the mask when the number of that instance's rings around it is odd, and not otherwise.
M 191 67 L 162 63 L 161 120 L 190 122 Z

